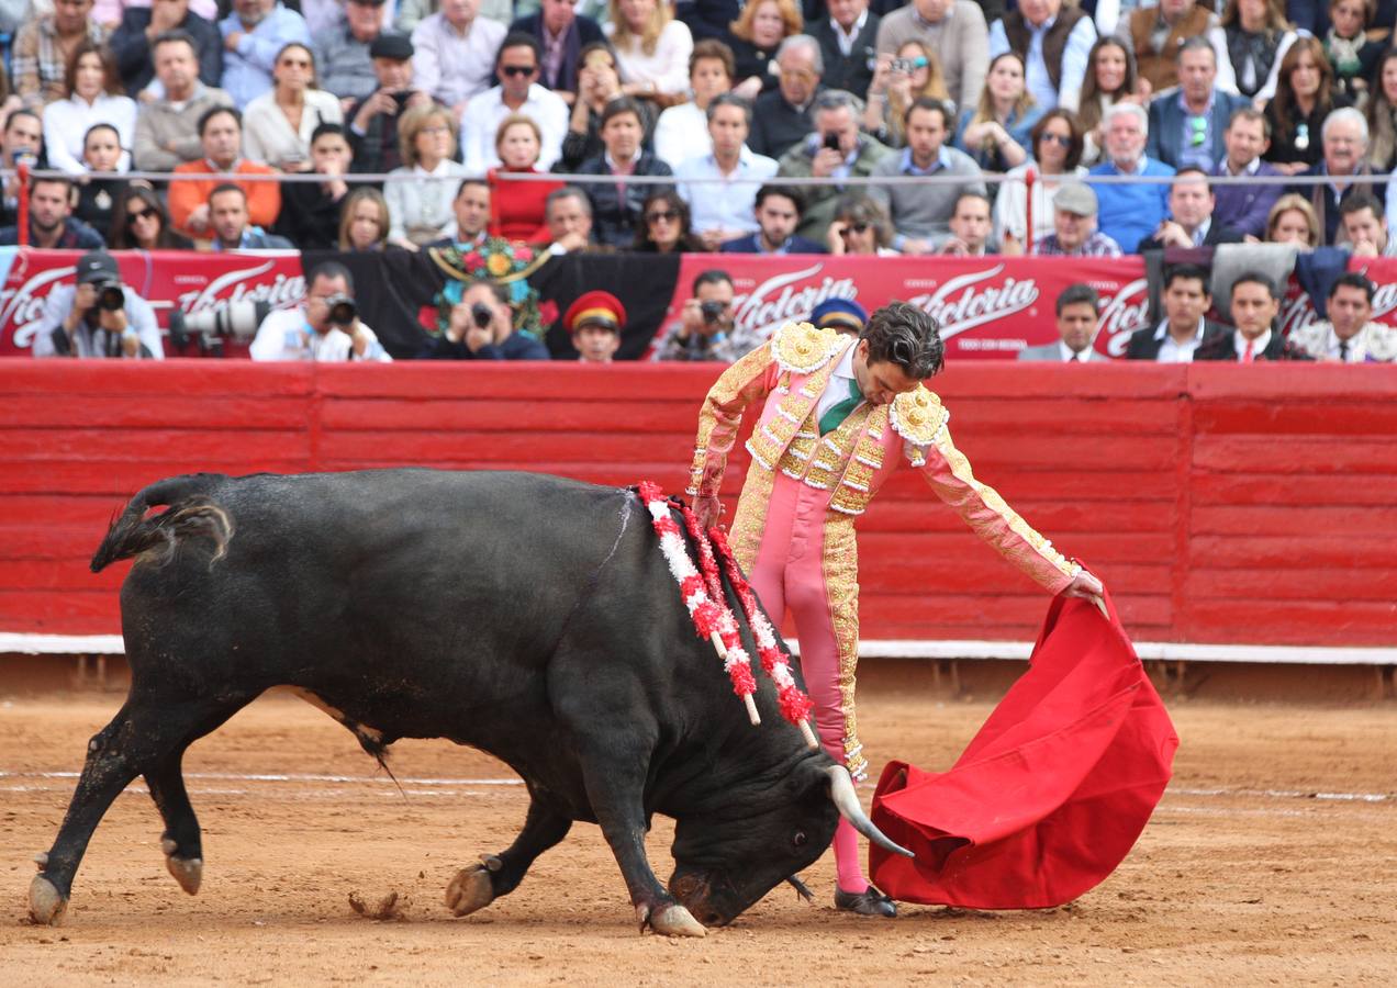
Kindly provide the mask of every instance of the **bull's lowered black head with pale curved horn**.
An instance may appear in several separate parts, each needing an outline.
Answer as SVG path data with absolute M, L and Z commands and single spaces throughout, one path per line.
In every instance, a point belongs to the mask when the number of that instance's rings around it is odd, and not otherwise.
M 873 826 L 848 770 L 821 761 L 802 762 L 781 784 L 745 798 L 732 812 L 678 821 L 669 893 L 698 922 L 732 922 L 777 885 L 814 864 L 834 840 L 840 816 L 884 850 L 912 857 Z M 798 881 L 792 883 L 803 892 Z

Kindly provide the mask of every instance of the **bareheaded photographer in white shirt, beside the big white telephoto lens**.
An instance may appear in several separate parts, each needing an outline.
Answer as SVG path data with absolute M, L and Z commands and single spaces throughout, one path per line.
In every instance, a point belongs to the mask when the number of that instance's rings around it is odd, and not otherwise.
M 312 269 L 305 306 L 263 320 L 249 354 L 253 360 L 393 361 L 373 329 L 359 318 L 353 276 L 338 261 L 324 261 Z

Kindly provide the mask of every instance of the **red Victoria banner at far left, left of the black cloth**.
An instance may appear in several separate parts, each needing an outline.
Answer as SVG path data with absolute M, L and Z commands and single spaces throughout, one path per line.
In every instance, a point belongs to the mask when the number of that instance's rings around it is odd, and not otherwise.
M 29 352 L 49 293 L 73 282 L 82 251 L 27 250 L 14 253 L 0 290 L 0 357 Z M 191 254 L 189 251 L 113 251 L 122 280 L 151 303 L 161 328 L 175 310 L 186 315 L 219 313 L 237 301 L 265 301 L 291 308 L 306 294 L 300 254 L 256 251 Z

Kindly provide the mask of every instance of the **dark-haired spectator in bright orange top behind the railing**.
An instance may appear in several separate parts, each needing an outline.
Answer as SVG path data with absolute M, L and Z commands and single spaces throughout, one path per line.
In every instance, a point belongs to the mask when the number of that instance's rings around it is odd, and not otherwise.
M 277 174 L 277 169 L 243 158 L 243 119 L 231 106 L 215 106 L 198 119 L 198 140 L 204 160 L 187 162 L 175 169 L 180 179 L 170 181 L 170 222 L 186 236 L 208 240 L 214 236 L 208 218 L 208 194 L 231 174 Z M 187 179 L 183 176 L 210 176 Z M 249 222 L 271 229 L 281 212 L 281 184 L 277 181 L 235 183 L 247 194 Z

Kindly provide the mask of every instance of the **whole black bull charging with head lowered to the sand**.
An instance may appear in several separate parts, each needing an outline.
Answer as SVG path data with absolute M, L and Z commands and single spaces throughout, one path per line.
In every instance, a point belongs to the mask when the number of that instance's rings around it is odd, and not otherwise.
M 665 934 L 729 922 L 795 881 L 841 812 L 886 840 L 770 684 L 761 726 L 747 721 L 631 491 L 434 470 L 173 477 L 131 500 L 92 569 L 129 557 L 130 695 L 38 855 L 36 922 L 61 918 L 92 832 L 137 776 L 194 893 L 184 749 L 278 685 L 380 761 L 398 738 L 441 737 L 524 779 L 518 837 L 447 888 L 458 915 L 517 888 L 573 821 L 601 825 L 643 928 Z M 676 821 L 668 890 L 645 858 L 657 812 Z

